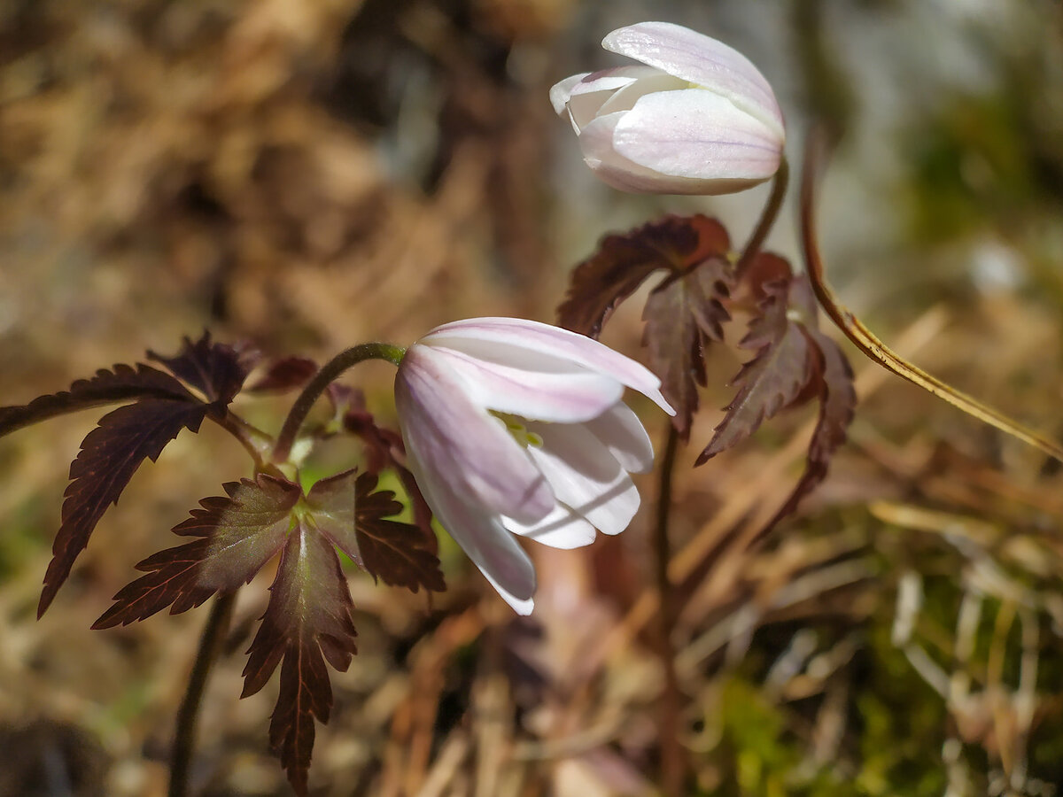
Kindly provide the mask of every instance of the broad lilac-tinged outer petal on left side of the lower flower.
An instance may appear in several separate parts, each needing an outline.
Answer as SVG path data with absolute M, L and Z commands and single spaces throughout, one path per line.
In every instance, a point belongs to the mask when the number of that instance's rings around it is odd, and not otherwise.
M 502 423 L 474 404 L 449 359 L 412 345 L 395 375 L 403 441 L 429 478 L 485 509 L 530 523 L 554 507 L 542 474 Z

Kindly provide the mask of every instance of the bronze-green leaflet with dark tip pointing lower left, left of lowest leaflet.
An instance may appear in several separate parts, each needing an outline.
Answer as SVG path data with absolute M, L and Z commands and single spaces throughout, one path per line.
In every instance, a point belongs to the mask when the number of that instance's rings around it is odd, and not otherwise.
M 247 583 L 281 549 L 299 487 L 266 474 L 223 487 L 226 495 L 204 498 L 202 509 L 173 527 L 175 535 L 200 539 L 137 564 L 148 575 L 122 588 L 94 628 L 129 625 L 168 606 L 180 614 Z

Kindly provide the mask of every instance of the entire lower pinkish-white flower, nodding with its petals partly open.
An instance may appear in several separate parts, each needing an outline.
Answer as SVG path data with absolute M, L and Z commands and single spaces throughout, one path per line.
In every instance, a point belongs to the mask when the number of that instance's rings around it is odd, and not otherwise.
M 628 472 L 653 447 L 624 386 L 670 414 L 660 380 L 595 340 L 511 318 L 457 321 L 411 345 L 395 376 L 410 470 L 442 526 L 506 601 L 533 608 L 535 570 L 510 532 L 557 548 L 623 531 Z

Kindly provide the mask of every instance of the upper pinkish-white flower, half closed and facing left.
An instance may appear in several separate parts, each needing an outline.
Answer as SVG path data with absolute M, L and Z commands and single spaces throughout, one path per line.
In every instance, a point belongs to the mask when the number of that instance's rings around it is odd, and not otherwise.
M 646 66 L 575 74 L 550 99 L 603 181 L 642 193 L 730 193 L 778 170 L 782 113 L 740 52 L 671 22 L 621 28 L 602 47 Z

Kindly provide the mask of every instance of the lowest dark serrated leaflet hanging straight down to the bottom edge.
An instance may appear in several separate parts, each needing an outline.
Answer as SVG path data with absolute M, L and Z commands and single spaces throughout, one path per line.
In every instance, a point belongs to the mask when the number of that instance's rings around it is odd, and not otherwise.
M 281 555 L 269 606 L 248 650 L 241 697 L 258 692 L 284 660 L 270 744 L 301 797 L 307 794 L 314 720 L 327 722 L 332 711 L 325 661 L 344 672 L 356 652 L 353 609 L 330 540 L 297 525 Z

